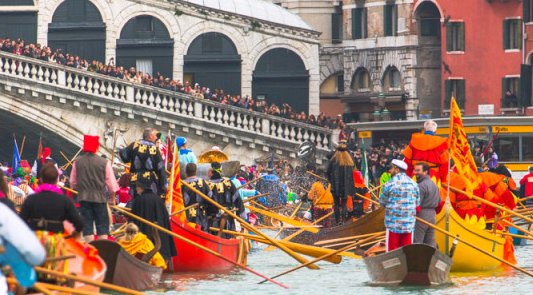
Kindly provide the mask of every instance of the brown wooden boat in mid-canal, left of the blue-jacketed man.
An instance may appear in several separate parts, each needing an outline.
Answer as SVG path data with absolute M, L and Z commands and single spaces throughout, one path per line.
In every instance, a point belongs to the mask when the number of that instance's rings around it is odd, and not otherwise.
M 318 241 L 338 239 L 350 236 L 363 235 L 368 233 L 374 233 L 385 230 L 385 224 L 383 222 L 385 218 L 385 210 L 380 208 L 363 215 L 361 218 L 345 223 L 339 226 L 333 226 L 329 228 L 322 228 L 317 234 L 310 232 L 302 232 L 296 237 L 291 239 L 291 242 L 313 245 Z M 289 236 L 296 232 L 298 229 L 284 230 L 284 235 Z M 338 249 L 342 246 L 332 247 L 332 249 Z

